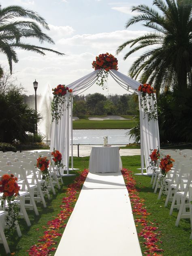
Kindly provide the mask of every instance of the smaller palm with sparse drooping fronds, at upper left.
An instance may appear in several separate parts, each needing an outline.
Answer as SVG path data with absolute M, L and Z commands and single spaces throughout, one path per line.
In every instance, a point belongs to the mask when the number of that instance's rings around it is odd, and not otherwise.
M 31 19 L 31 21 L 26 20 Z M 15 49 L 24 49 L 45 55 L 44 51 L 51 51 L 59 55 L 58 51 L 49 48 L 24 43 L 21 39 L 37 38 L 40 43 L 48 42 L 54 44 L 54 41 L 41 30 L 39 24 L 49 30 L 45 19 L 38 13 L 25 9 L 21 6 L 11 5 L 2 8 L 0 4 L 0 52 L 6 54 L 9 62 L 10 72 L 12 73 L 12 63 L 18 62 Z M 3 70 L 0 67 L 0 77 Z

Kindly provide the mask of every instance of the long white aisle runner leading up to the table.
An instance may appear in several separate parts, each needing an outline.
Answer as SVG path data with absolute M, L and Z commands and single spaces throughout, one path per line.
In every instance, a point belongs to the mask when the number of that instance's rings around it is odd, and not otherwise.
M 122 173 L 88 173 L 55 256 L 142 256 Z

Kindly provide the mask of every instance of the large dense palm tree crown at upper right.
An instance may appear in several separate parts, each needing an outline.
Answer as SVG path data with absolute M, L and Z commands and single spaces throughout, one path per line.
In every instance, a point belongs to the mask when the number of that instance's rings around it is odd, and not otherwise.
M 129 70 L 132 78 L 140 76 L 141 83 L 154 83 L 158 91 L 161 87 L 192 88 L 192 0 L 154 0 L 153 5 L 160 12 L 145 4 L 132 7 L 140 14 L 129 19 L 126 28 L 143 21 L 152 31 L 126 41 L 117 54 L 130 45 L 126 60 L 147 47 Z

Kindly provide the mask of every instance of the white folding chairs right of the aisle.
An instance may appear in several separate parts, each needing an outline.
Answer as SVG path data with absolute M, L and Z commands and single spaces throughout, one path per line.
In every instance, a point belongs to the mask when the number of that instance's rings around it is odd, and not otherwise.
M 186 149 L 179 151 L 164 151 L 164 155 L 169 154 L 171 158 L 175 159 L 173 168 L 169 171 L 164 178 L 163 185 L 165 186 L 166 201 L 165 207 L 171 201 L 170 215 L 173 209 L 178 209 L 177 220 L 175 226 L 178 226 L 181 218 L 190 218 L 192 229 L 192 150 Z M 159 163 L 158 163 L 159 165 Z M 154 192 L 160 188 L 158 199 L 162 194 L 162 185 L 160 185 L 161 173 L 158 169 L 154 169 Z M 151 179 L 152 180 L 152 179 Z M 189 209 L 189 211 L 187 211 Z M 190 235 L 192 239 L 192 232 Z

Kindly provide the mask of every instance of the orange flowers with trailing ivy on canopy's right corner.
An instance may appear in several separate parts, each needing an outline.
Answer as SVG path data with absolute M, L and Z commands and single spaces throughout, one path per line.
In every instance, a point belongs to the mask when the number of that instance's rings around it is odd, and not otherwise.
M 148 121 L 157 120 L 157 101 L 156 90 L 149 83 L 139 85 L 138 91 L 141 92 L 141 107 L 144 110 L 144 115 L 148 116 Z M 153 104 L 151 102 L 153 100 Z

